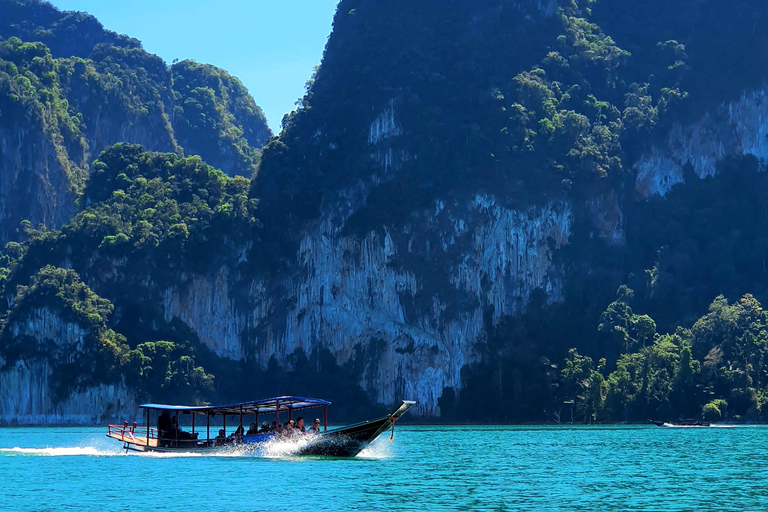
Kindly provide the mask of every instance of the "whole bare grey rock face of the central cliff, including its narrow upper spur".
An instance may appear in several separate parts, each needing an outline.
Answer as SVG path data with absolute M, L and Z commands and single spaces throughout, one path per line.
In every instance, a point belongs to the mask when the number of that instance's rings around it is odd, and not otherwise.
M 476 358 L 487 312 L 494 324 L 518 313 L 537 288 L 560 299 L 563 275 L 552 255 L 568 243 L 573 213 L 566 200 L 513 209 L 478 194 L 437 201 L 397 229 L 348 233 L 370 190 L 399 167 L 380 155 L 396 154 L 400 126 L 394 102 L 372 120 L 369 154 L 382 173 L 324 203 L 301 235 L 289 278 L 242 283 L 224 267 L 183 280 L 164 294 L 165 320 L 181 319 L 232 359 L 284 362 L 295 350 L 328 349 L 343 364 L 362 347 L 370 357 L 360 384 L 374 400 L 415 399 L 419 414 L 438 415 L 443 389 L 459 388 L 462 367 Z M 615 198 L 603 202 L 615 210 Z M 606 210 L 603 202 L 595 212 Z M 620 218 L 604 222 L 620 231 Z M 232 299 L 238 286 L 249 290 L 247 305 Z

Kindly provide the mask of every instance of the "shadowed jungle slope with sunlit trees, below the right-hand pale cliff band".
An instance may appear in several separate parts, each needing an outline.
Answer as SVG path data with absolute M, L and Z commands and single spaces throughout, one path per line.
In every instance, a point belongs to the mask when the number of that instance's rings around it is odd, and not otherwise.
M 577 233 L 557 255 L 565 300 L 539 291 L 489 322 L 482 360 L 444 391 L 445 418 L 765 421 L 766 186 L 754 157 L 729 160 L 634 203 L 622 247 Z

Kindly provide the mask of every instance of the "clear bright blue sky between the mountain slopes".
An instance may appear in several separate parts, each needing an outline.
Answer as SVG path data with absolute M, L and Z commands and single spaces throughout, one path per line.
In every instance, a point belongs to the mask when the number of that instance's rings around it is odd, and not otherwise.
M 240 78 L 272 131 L 320 63 L 338 0 L 49 0 L 85 11 L 171 63 L 194 59 Z

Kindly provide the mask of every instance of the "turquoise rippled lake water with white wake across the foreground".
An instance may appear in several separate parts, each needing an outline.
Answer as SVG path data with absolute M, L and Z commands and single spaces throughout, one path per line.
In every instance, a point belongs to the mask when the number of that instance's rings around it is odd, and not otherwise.
M 768 510 L 768 427 L 419 427 L 354 459 L 0 429 L 2 510 Z

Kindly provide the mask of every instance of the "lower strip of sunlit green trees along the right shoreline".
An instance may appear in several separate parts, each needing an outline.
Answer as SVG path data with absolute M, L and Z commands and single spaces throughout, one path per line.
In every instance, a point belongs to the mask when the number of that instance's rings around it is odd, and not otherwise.
M 550 329 L 540 312 L 502 324 L 485 347 L 485 361 L 462 372 L 461 393 L 444 391 L 443 419 L 765 421 L 768 313 L 757 299 L 746 294 L 729 304 L 720 295 L 692 326 L 659 334 L 650 316 L 633 311 L 633 295 L 622 286 L 592 342 L 582 344 L 604 348 L 610 359 L 595 360 L 576 348 L 556 363 L 542 355 L 531 342 Z

